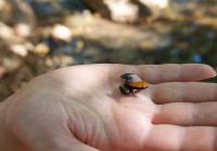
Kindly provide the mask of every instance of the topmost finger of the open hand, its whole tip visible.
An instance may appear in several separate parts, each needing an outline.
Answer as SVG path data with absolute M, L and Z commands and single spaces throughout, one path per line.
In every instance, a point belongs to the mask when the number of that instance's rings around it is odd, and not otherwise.
M 216 77 L 216 71 L 204 64 L 169 64 L 139 66 L 139 76 L 148 83 L 189 82 Z

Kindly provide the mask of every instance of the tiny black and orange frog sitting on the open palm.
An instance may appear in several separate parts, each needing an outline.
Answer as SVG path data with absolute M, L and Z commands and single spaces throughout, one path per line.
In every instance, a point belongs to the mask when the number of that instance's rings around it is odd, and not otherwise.
M 129 95 L 132 93 L 135 96 L 136 92 L 146 88 L 149 85 L 144 81 L 142 81 L 135 73 L 124 73 L 120 76 L 122 79 L 126 79 L 124 87 L 119 86 L 119 91 L 124 95 Z

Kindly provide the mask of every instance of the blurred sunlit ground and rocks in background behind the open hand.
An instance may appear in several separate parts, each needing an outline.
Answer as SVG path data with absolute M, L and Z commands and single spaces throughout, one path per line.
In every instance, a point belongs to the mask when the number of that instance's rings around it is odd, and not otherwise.
M 0 101 L 38 74 L 102 63 L 217 70 L 217 0 L 0 0 Z

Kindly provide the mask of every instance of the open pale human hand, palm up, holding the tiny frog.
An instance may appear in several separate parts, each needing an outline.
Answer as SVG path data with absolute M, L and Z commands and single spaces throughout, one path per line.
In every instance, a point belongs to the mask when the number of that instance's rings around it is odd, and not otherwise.
M 120 74 L 149 87 L 119 92 Z M 207 65 L 84 65 L 33 79 L 0 104 L 1 151 L 216 151 Z

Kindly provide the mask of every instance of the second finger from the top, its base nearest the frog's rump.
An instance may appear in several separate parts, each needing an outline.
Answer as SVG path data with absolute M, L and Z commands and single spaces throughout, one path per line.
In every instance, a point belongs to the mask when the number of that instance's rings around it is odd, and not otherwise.
M 168 82 L 151 87 L 155 104 L 203 102 L 217 100 L 217 84 L 202 82 Z

